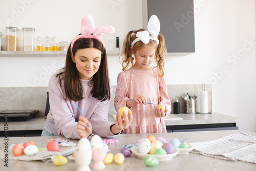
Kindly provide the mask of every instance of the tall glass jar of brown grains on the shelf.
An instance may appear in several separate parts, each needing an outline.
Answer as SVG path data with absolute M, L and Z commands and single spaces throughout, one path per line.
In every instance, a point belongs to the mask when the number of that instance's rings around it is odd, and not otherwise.
M 18 28 L 6 27 L 6 51 L 18 51 Z

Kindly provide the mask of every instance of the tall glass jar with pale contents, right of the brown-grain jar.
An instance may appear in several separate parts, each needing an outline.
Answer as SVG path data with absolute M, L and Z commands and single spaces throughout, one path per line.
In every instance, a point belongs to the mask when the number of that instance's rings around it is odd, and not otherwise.
M 34 51 L 34 28 L 22 28 L 23 31 L 23 50 Z

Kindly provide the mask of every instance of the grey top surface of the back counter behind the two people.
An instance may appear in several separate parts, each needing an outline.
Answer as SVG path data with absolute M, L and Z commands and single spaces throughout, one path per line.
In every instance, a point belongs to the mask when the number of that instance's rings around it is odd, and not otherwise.
M 109 115 L 109 121 L 115 122 L 114 117 Z M 165 125 L 191 125 L 212 123 L 237 123 L 238 118 L 212 113 L 212 114 L 170 114 L 164 118 Z M 42 130 L 46 118 L 32 118 L 28 121 L 9 121 L 8 131 L 17 130 Z M 0 125 L 0 131 L 4 131 L 4 124 Z

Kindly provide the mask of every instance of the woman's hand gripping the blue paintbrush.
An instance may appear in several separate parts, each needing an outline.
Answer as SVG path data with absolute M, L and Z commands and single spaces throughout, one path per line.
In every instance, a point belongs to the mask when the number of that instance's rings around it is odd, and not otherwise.
M 87 123 L 90 126 L 90 129 L 93 130 L 92 124 L 89 122 L 89 120 L 86 117 L 79 116 L 76 132 L 80 136 L 80 138 L 83 138 L 83 137 L 88 138 L 91 135 L 91 131 L 87 126 Z

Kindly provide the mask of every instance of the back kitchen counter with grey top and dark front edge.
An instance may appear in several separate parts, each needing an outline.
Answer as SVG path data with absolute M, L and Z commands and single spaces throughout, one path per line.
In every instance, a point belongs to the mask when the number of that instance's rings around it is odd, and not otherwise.
M 25 131 L 22 134 L 28 134 L 28 136 L 38 136 L 44 127 L 46 118 L 32 118 L 28 121 L 9 121 L 8 131 L 9 136 L 16 136 L 17 132 Z M 114 117 L 109 115 L 109 121 L 115 122 Z M 214 131 L 220 130 L 219 128 L 226 129 L 238 129 L 238 118 L 212 113 L 212 114 L 170 114 L 164 118 L 164 122 L 168 132 L 183 132 L 183 131 Z M 31 131 L 32 130 L 32 131 Z M 30 131 L 30 133 L 28 132 Z M 4 124 L 0 125 L 1 135 L 4 132 Z M 17 133 L 19 134 L 19 133 Z M 22 135 L 21 133 L 19 135 Z

